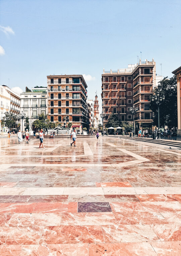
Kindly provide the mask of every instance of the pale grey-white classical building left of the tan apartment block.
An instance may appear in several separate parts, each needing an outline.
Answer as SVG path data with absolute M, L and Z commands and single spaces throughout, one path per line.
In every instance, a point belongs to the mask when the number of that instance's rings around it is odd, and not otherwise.
M 33 129 L 33 122 L 38 118 L 38 115 L 47 114 L 47 88 L 35 87 L 20 94 L 20 113 L 25 113 L 25 118 L 29 118 L 29 131 Z M 24 131 L 24 121 L 21 130 Z

